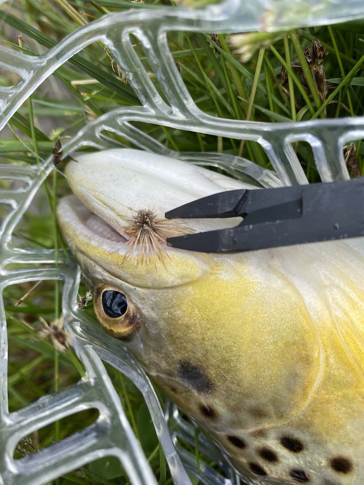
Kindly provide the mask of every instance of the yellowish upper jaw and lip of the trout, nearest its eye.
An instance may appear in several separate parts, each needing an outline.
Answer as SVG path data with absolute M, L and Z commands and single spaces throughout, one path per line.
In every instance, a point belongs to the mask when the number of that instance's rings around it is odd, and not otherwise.
M 210 259 L 200 253 L 187 254 L 186 251 L 168 247 L 165 243 L 163 249 L 169 257 L 168 264 L 160 265 L 158 258 L 152 258 L 149 259 L 146 271 L 144 264 L 138 264 L 136 249 L 136 254 L 132 252 L 132 258 L 123 266 L 130 249 L 129 241 L 124 241 L 124 238 L 113 241 L 104 237 L 106 234 L 100 235 L 98 231 L 93 231 L 85 224 L 90 217 L 95 217 L 105 230 L 123 238 L 106 221 L 88 209 L 75 194 L 66 195 L 58 203 L 57 218 L 66 242 L 78 259 L 83 273 L 90 280 L 103 281 L 106 278 L 114 281 L 114 284 L 117 280 L 131 287 L 162 289 L 185 285 L 206 277 L 210 272 Z

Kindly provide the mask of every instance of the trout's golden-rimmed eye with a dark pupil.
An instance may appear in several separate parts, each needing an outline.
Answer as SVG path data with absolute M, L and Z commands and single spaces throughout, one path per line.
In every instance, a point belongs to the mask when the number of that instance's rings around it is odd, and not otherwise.
M 116 339 L 130 339 L 142 324 L 142 315 L 121 288 L 100 283 L 94 287 L 94 310 L 103 329 Z

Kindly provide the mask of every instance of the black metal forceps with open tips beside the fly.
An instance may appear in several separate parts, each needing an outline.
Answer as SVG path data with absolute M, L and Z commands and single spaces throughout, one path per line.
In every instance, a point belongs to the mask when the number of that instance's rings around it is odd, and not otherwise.
M 165 213 L 167 219 L 243 217 L 238 225 L 167 239 L 201 252 L 252 251 L 364 236 L 364 177 L 277 189 L 208 195 Z

